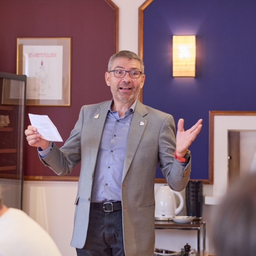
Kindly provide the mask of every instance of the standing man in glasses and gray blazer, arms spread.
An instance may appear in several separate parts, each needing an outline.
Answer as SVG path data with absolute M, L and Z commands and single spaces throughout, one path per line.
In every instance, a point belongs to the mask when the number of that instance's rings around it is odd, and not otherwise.
M 176 146 L 173 117 L 137 100 L 144 80 L 140 57 L 120 51 L 105 73 L 113 100 L 83 106 L 60 150 L 35 127 L 25 131 L 28 143 L 40 147 L 41 161 L 58 175 L 70 174 L 81 160 L 71 242 L 77 255 L 152 255 L 158 162 L 172 189 L 184 189 L 189 180 L 188 146 L 202 120 L 188 131 L 179 120 Z

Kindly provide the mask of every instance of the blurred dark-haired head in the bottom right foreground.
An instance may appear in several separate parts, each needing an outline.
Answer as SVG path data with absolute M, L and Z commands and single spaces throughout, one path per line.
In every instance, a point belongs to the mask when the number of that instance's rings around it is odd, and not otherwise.
M 235 182 L 218 206 L 212 239 L 217 256 L 256 253 L 256 174 Z

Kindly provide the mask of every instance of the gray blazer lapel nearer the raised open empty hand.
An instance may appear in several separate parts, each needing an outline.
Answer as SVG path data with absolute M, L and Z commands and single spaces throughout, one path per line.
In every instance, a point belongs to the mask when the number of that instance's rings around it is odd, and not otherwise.
M 123 176 L 122 181 L 128 172 L 130 165 L 133 161 L 137 148 L 139 146 L 141 137 L 144 133 L 147 120 L 144 116 L 147 114 L 145 105 L 143 105 L 139 100 L 137 101 L 136 108 L 133 113 L 133 120 L 130 127 L 130 132 L 127 140 L 124 164 L 123 164 Z M 140 122 L 143 121 L 144 125 L 140 125 Z

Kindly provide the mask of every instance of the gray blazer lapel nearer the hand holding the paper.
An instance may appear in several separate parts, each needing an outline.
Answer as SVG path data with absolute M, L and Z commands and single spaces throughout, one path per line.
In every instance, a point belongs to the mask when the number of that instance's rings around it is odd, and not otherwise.
M 104 102 L 100 105 L 100 109 L 98 112 L 94 113 L 94 119 L 92 124 L 92 132 L 91 132 L 91 164 L 92 164 L 92 172 L 94 173 L 95 165 L 97 161 L 100 141 L 103 133 L 103 127 L 106 120 L 106 115 L 108 115 L 110 101 Z M 98 115 L 98 118 L 95 118 Z

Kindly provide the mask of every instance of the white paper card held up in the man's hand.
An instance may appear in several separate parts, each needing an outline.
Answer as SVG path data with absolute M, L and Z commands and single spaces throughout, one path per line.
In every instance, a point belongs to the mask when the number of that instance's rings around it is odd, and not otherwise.
M 49 141 L 63 141 L 59 135 L 56 126 L 48 116 L 29 114 L 32 126 L 35 126 L 40 138 Z

